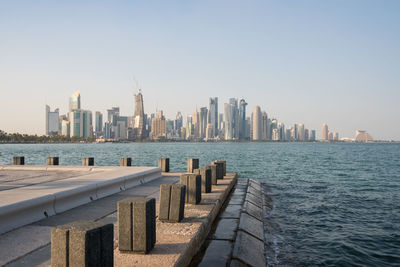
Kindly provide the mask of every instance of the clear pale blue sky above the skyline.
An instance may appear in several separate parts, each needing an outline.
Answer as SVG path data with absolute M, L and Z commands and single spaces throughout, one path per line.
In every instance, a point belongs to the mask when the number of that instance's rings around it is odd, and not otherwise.
M 84 2 L 84 3 L 83 3 Z M 1 1 L 0 129 L 45 104 L 184 116 L 245 98 L 291 126 L 400 140 L 400 1 Z

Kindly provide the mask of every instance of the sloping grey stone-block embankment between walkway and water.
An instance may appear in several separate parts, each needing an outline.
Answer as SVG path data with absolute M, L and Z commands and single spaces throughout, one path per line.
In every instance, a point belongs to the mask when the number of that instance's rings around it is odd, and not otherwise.
M 266 266 L 262 216 L 267 201 L 263 196 L 260 183 L 239 179 L 190 266 Z

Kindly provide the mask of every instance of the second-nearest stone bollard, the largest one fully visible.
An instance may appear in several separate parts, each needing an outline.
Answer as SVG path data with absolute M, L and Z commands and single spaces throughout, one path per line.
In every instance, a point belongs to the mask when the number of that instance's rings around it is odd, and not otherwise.
M 118 246 L 121 252 L 149 253 L 156 243 L 156 200 L 133 197 L 118 202 Z

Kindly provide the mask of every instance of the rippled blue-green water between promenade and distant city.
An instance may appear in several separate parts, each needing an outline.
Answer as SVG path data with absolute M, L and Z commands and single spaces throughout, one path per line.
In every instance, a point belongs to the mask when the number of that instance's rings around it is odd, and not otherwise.
M 59 156 L 61 165 L 154 166 L 169 157 L 172 171 L 186 158 L 227 160 L 239 177 L 259 179 L 272 199 L 265 218 L 271 265 L 399 266 L 400 144 L 392 143 L 131 143 L 0 145 L 0 164 Z

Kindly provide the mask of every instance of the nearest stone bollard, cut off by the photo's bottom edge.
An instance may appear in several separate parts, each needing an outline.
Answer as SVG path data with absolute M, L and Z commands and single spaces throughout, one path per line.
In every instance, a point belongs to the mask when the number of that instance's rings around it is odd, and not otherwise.
M 78 221 L 51 229 L 51 266 L 113 265 L 113 224 Z

